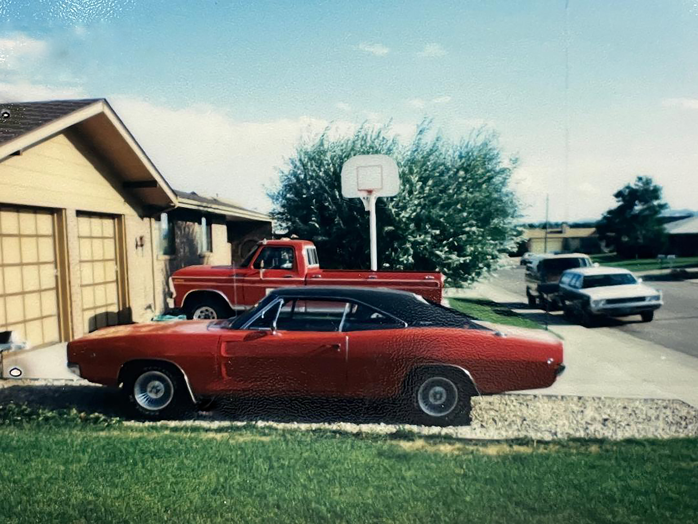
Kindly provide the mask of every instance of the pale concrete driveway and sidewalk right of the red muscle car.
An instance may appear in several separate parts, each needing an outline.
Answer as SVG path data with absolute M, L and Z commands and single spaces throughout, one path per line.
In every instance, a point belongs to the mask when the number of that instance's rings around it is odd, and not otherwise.
M 450 290 L 449 296 L 488 298 L 507 305 L 521 303 L 519 296 L 489 282 L 475 284 L 470 289 Z M 550 328 L 563 337 L 567 369 L 550 388 L 526 393 L 678 398 L 698 407 L 698 358 L 613 328 L 569 325 L 559 313 L 551 314 Z

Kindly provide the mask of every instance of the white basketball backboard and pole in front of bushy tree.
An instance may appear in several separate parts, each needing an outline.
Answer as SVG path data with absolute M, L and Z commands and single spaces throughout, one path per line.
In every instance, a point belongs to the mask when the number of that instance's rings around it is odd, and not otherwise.
M 378 270 L 376 246 L 376 200 L 395 196 L 400 191 L 397 164 L 385 154 L 359 154 L 342 166 L 342 195 L 361 198 L 369 212 L 371 235 L 371 271 Z

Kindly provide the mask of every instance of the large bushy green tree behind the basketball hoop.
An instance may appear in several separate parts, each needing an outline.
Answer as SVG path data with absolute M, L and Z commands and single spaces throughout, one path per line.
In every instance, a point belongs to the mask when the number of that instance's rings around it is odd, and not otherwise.
M 360 127 L 352 136 L 329 132 L 301 143 L 269 194 L 272 216 L 290 235 L 313 240 L 327 268 L 369 267 L 369 215 L 359 199 L 341 195 L 341 168 L 356 154 L 396 160 L 401 191 L 378 201 L 378 264 L 394 270 L 438 270 L 452 286 L 496 268 L 516 247 L 519 202 L 491 133 L 452 143 L 417 126 L 401 144 L 389 124 Z

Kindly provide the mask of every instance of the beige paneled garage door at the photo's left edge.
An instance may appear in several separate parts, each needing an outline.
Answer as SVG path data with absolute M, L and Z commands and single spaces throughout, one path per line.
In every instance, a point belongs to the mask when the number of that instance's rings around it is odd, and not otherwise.
M 0 206 L 0 330 L 31 347 L 60 341 L 54 214 Z

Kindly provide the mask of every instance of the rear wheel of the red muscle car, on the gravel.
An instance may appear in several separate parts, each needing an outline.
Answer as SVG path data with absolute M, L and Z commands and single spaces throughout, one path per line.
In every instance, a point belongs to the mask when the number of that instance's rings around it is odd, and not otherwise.
M 473 388 L 461 374 L 433 368 L 417 372 L 410 380 L 410 408 L 417 423 L 454 425 L 470 422 Z

